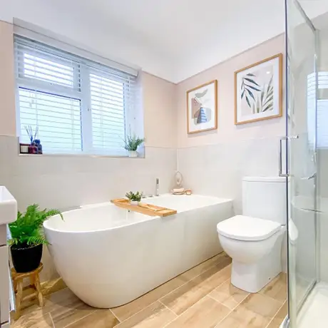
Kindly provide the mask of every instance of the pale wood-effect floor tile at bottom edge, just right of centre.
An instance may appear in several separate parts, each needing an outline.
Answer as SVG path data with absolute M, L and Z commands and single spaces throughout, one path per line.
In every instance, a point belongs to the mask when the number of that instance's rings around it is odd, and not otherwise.
M 229 312 L 223 304 L 204 297 L 165 328 L 214 328 Z

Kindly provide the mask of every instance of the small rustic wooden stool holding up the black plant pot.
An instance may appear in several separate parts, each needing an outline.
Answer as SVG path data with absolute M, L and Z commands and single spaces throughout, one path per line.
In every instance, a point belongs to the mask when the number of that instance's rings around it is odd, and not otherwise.
M 18 273 L 14 268 L 11 269 L 11 276 L 13 277 L 14 290 L 16 294 L 16 312 L 15 312 L 16 320 L 19 319 L 19 317 L 21 317 L 21 302 L 27 301 L 34 297 L 38 297 L 39 306 L 43 307 L 43 295 L 41 291 L 40 277 L 39 277 L 39 273 L 41 272 L 42 269 L 43 269 L 42 263 L 40 263 L 39 267 L 36 270 L 25 272 L 25 273 Z M 30 285 L 23 288 L 24 278 L 29 278 Z M 23 297 L 23 290 L 29 288 L 32 288 L 35 291 Z

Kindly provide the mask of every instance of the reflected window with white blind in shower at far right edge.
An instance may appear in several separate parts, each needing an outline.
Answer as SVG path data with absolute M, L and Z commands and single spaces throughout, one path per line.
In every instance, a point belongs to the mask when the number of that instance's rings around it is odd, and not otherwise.
M 318 73 L 319 93 L 322 89 L 328 89 L 328 72 Z M 316 119 L 317 101 L 317 127 Z M 309 133 L 309 143 L 313 144 L 314 135 L 317 128 L 317 148 L 328 148 L 328 98 L 317 99 L 316 74 L 312 73 L 307 77 L 307 126 Z

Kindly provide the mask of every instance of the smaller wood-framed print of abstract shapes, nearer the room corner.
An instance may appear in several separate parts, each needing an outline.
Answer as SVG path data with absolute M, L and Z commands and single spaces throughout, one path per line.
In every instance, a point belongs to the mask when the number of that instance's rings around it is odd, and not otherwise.
M 217 80 L 187 91 L 188 133 L 217 129 Z

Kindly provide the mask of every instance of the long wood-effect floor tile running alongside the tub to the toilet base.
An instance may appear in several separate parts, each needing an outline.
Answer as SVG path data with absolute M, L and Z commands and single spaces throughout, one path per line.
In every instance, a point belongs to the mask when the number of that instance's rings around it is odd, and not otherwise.
M 163 302 L 175 314 L 182 314 L 186 309 L 230 278 L 230 263 L 230 258 L 220 262 L 202 275 L 195 277 L 187 284 L 166 295 L 160 299 L 160 302 Z

